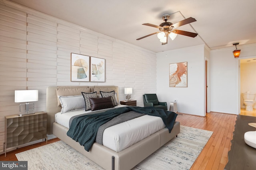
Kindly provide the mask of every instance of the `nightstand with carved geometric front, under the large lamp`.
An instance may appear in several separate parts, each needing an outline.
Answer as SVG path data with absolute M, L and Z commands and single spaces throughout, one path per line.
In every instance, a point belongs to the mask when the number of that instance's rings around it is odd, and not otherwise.
M 10 147 L 46 139 L 47 114 L 44 111 L 32 115 L 9 115 L 5 117 L 4 152 Z

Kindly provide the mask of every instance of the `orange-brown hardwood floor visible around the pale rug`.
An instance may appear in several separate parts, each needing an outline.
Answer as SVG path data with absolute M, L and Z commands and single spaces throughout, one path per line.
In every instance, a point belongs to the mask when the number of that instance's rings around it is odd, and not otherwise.
M 213 131 L 208 143 L 194 162 L 190 170 L 223 170 L 228 162 L 228 151 L 233 137 L 236 115 L 223 113 L 207 113 L 206 117 L 194 115 L 178 115 L 176 118 L 181 125 Z M 59 139 L 48 140 L 48 143 L 56 142 Z M 24 150 L 33 149 L 46 145 L 46 142 L 20 148 L 6 154 L 0 155 L 0 160 L 17 160 L 15 154 Z

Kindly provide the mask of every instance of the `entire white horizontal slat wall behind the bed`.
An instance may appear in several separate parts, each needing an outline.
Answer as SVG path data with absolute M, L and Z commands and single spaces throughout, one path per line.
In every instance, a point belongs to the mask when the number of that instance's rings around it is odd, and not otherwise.
M 35 111 L 46 110 L 48 86 L 132 87 L 132 99 L 156 92 L 156 54 L 124 41 L 42 14 L 12 2 L 0 2 L 0 150 L 4 116 L 17 114 L 14 90 L 38 89 Z M 71 82 L 70 53 L 103 58 L 106 82 Z M 0 151 L 1 152 L 1 151 Z

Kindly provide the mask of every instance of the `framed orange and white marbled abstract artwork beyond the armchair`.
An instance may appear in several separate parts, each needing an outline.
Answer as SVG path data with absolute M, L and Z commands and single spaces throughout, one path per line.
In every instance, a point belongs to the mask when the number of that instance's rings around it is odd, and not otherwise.
M 169 87 L 188 87 L 188 62 L 169 64 Z

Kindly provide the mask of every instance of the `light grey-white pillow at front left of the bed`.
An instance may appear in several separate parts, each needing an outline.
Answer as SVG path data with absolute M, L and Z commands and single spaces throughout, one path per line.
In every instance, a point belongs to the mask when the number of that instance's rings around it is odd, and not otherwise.
M 84 97 L 78 96 L 58 96 L 61 104 L 61 113 L 66 113 L 72 110 L 85 109 Z

